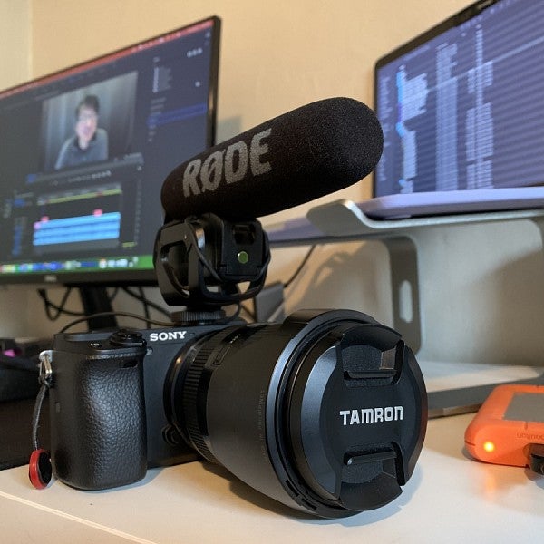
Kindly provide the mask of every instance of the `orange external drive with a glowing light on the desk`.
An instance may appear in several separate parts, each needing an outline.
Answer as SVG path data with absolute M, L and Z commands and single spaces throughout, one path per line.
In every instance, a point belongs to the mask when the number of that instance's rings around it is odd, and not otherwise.
M 544 444 L 544 385 L 499 385 L 465 432 L 480 461 L 525 467 Z

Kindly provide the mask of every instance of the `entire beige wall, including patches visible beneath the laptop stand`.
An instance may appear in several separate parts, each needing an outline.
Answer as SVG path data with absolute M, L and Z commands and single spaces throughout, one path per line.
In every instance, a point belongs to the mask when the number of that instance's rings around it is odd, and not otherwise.
M 381 54 L 469 0 L 0 0 L 0 86 L 42 75 L 181 24 L 223 19 L 219 141 L 298 105 L 334 95 L 372 103 Z M 5 39 L 0 34 L 0 39 Z M 3 42 L 4 44 L 4 42 Z M 27 59 L 32 59 L 29 70 Z M 10 62 L 8 63 L 8 59 Z M 4 67 L 7 68 L 4 68 Z M 369 181 L 332 198 L 364 199 Z M 312 203 L 312 204 L 315 204 Z M 295 217 L 310 205 L 265 223 Z M 433 229 L 421 238 L 424 358 L 539 362 L 543 259 L 533 225 Z M 275 250 L 270 280 L 287 278 L 305 249 Z M 355 307 L 390 322 L 388 260 L 379 243 L 319 248 L 288 309 Z M 157 300 L 160 296 L 151 292 Z M 21 304 L 22 303 L 22 304 Z M 75 304 L 75 303 L 74 303 Z M 10 306 L 20 315 L 5 318 Z M 129 307 L 120 299 L 117 307 Z M 0 293 L 0 334 L 52 334 L 59 325 L 26 287 Z M 138 308 L 131 308 L 138 309 Z

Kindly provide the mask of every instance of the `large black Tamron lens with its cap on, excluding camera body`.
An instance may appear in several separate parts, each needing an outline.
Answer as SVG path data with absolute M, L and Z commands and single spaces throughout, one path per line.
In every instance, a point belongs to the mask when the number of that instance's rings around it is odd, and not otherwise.
M 192 448 L 325 518 L 393 500 L 423 445 L 427 397 L 412 351 L 355 311 L 306 310 L 200 337 L 166 387 Z

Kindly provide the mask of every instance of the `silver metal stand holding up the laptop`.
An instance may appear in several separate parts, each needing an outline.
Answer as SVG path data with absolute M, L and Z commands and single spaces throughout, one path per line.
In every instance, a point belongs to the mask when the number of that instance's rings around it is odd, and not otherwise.
M 415 238 L 423 228 L 529 219 L 539 228 L 544 244 L 544 209 L 520 209 L 429 218 L 374 220 L 355 202 L 337 200 L 310 209 L 306 219 L 267 229 L 271 247 L 379 240 L 389 252 L 393 296 L 393 327 L 417 352 L 422 345 L 418 256 Z M 523 383 L 544 384 L 544 374 Z M 429 393 L 429 415 L 438 417 L 474 412 L 496 384 Z

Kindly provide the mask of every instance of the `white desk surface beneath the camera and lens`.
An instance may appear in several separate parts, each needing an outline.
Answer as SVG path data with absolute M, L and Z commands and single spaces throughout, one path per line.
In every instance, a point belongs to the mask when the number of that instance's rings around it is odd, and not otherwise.
M 463 436 L 473 414 L 429 422 L 420 461 L 402 495 L 341 520 L 290 510 L 209 464 L 149 471 L 113 491 L 54 481 L 34 490 L 27 467 L 0 471 L 0 541 L 64 542 L 539 542 L 544 476 L 472 461 Z

